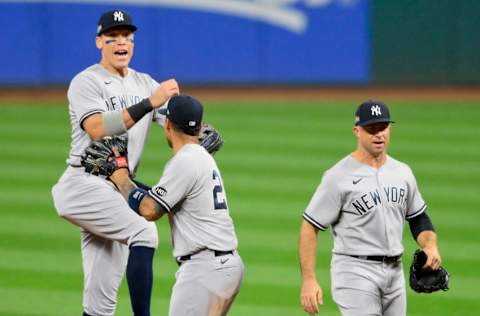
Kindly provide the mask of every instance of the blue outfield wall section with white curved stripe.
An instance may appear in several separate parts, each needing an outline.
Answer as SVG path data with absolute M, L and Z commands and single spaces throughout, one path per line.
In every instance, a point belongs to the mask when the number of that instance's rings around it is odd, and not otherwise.
M 120 5 L 118 5 L 120 4 Z M 189 84 L 367 84 L 369 0 L 8 1 L 0 85 L 67 84 L 99 61 L 100 14 L 138 26 L 131 66 Z

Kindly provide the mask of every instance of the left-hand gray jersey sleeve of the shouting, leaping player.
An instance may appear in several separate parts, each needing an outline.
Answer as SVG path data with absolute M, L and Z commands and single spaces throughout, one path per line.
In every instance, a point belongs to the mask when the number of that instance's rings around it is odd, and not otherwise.
M 94 113 L 105 112 L 105 103 L 100 86 L 89 76 L 77 76 L 68 89 L 68 101 L 71 110 L 79 118 L 80 127 L 87 117 Z

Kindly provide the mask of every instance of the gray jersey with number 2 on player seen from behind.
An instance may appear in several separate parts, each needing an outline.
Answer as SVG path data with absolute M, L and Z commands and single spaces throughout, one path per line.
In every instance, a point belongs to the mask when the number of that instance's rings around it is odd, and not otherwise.
M 183 146 L 148 193 L 169 212 L 175 257 L 237 248 L 220 171 L 202 146 Z

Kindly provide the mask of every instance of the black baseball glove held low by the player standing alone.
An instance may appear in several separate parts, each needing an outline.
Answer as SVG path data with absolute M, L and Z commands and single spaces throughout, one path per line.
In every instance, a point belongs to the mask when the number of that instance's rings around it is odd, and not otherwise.
M 448 290 L 450 274 L 443 267 L 438 270 L 426 271 L 422 267 L 427 262 L 427 255 L 417 249 L 410 265 L 410 287 L 417 293 L 432 293 L 438 290 Z

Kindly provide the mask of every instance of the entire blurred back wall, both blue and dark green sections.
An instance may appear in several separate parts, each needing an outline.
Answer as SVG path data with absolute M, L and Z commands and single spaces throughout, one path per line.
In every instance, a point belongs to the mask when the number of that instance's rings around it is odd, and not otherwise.
M 97 20 L 139 27 L 131 66 L 184 84 L 477 84 L 475 0 L 1 1 L 0 85 L 66 85 Z

